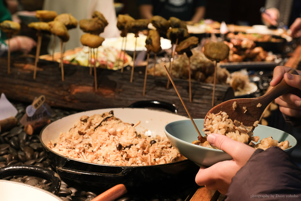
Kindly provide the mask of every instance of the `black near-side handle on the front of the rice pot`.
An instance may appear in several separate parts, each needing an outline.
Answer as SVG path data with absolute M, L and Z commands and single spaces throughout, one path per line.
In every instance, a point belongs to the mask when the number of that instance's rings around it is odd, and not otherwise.
M 107 173 L 98 173 L 98 172 L 88 172 L 81 170 L 74 170 L 70 168 L 65 168 L 62 166 L 56 167 L 57 173 L 61 175 L 61 177 L 74 179 L 74 180 L 86 180 L 89 182 L 100 182 L 101 183 L 122 183 L 123 178 L 128 174 L 132 168 L 123 169 L 121 172 L 117 174 L 107 174 Z

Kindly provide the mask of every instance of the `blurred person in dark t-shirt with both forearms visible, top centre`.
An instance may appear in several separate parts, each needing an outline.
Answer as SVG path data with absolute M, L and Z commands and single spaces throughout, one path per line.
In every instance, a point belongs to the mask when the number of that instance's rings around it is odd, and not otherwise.
M 150 19 L 160 15 L 167 20 L 177 17 L 180 20 L 197 23 L 205 16 L 205 0 L 138 0 L 141 18 Z

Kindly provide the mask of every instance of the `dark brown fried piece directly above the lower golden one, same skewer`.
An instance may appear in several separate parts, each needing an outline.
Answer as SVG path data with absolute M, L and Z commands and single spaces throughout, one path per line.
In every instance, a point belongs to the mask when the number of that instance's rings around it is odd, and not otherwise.
M 79 20 L 79 28 L 86 33 L 99 35 L 104 32 L 104 23 L 98 18 Z

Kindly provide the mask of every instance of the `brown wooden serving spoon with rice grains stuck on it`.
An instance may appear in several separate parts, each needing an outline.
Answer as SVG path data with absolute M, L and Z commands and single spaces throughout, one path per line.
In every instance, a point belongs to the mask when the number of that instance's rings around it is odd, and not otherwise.
M 295 70 L 290 70 L 288 73 L 297 74 Z M 245 98 L 245 99 L 232 99 L 226 102 L 222 102 L 209 110 L 205 117 L 204 127 L 206 119 L 209 113 L 217 114 L 220 111 L 226 112 L 229 115 L 229 119 L 232 121 L 237 120 L 241 122 L 244 126 L 252 126 L 254 130 L 254 122 L 259 121 L 263 111 L 274 99 L 279 96 L 290 92 L 294 87 L 289 86 L 284 79 L 281 80 L 276 86 L 265 93 L 263 96 L 256 98 Z M 234 110 L 234 105 L 236 102 L 237 107 Z

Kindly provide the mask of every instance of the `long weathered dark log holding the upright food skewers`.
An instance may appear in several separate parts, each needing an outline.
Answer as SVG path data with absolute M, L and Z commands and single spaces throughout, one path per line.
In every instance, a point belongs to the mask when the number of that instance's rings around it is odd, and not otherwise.
M 36 79 L 33 79 L 33 58 L 12 58 L 11 74 L 7 74 L 7 60 L 0 59 L 0 92 L 10 100 L 32 102 L 45 95 L 53 107 L 74 110 L 128 107 L 141 100 L 157 100 L 175 104 L 180 115 L 188 116 L 172 85 L 166 89 L 167 78 L 147 77 L 146 94 L 143 96 L 144 74 L 134 72 L 130 83 L 130 70 L 113 71 L 97 69 L 98 91 L 94 89 L 94 75 L 89 68 L 64 64 L 65 81 L 57 62 L 39 60 Z M 162 67 L 163 68 L 163 67 Z M 192 102 L 189 102 L 188 80 L 174 80 L 193 118 L 204 118 L 211 108 L 212 84 L 192 81 Z M 234 98 L 231 87 L 217 85 L 215 104 Z

